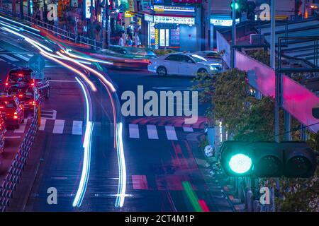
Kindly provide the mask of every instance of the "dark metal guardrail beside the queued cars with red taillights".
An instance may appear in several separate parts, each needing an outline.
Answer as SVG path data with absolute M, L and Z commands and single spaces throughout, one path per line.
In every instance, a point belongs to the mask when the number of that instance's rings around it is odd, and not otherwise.
M 9 206 L 10 200 L 13 197 L 13 191 L 16 190 L 19 180 L 21 179 L 23 169 L 26 166 L 28 157 L 30 155 L 31 147 L 35 139 L 35 135 L 38 131 L 38 117 L 39 108 L 35 109 L 33 120 L 30 124 L 30 128 L 26 133 L 23 142 L 20 145 L 16 157 L 6 174 L 6 178 L 0 187 L 0 212 L 5 212 Z

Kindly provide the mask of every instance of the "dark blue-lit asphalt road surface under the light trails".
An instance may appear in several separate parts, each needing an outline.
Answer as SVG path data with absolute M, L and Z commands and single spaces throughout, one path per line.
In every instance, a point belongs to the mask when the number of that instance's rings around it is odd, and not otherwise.
M 14 66 L 26 61 L 18 54 L 34 54 L 35 48 L 14 37 L 1 34 L 6 58 Z M 8 42 L 6 42 L 6 39 Z M 41 43 L 45 41 L 38 39 Z M 10 60 L 10 57 L 18 60 Z M 0 58 L 3 59 L 3 54 Z M 121 95 L 130 90 L 137 95 L 137 86 L 145 92 L 154 90 L 190 91 L 192 78 L 181 76 L 158 77 L 147 71 L 107 70 L 116 84 L 116 95 L 110 97 L 99 79 L 90 76 L 96 85 L 93 92 L 84 83 L 91 105 L 91 155 L 86 191 L 79 207 L 73 207 L 84 166 L 84 128 L 86 100 L 75 74 L 51 61 L 46 61 L 45 76 L 50 77 L 50 99 L 43 103 L 39 136 L 35 152 L 41 152 L 40 167 L 28 196 L 26 211 L 194 211 L 198 202 L 205 210 L 228 210 L 229 204 L 216 201 L 203 173 L 203 153 L 197 148 L 196 137 L 203 133 L 206 106 L 199 105 L 199 119 L 195 124 L 184 124 L 184 117 L 123 117 Z M 81 70 L 72 64 L 74 68 Z M 119 101 L 118 101 L 119 100 Z M 113 117 L 113 105 L 118 112 Z M 175 106 L 178 107 L 178 106 Z M 123 123 L 123 157 L 114 148 L 114 123 Z M 75 125 L 75 126 L 74 126 Z M 118 199 L 119 165 L 126 167 L 126 191 L 122 208 Z M 123 169 L 123 168 L 121 168 Z M 123 182 L 123 181 L 122 181 Z M 121 184 L 121 183 L 120 183 Z M 47 189 L 57 189 L 57 205 L 47 203 Z M 123 184 L 121 184 L 123 188 Z M 219 187 L 217 187 L 219 189 Z M 215 191 L 220 198 L 221 191 Z M 121 196 L 123 198 L 124 196 Z M 215 198 L 216 198 L 215 197 Z M 223 197 L 221 197 L 223 198 Z

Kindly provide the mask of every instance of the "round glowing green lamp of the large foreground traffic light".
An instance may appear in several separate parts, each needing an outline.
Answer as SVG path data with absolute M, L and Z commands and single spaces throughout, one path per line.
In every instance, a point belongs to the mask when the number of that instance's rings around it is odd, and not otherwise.
M 230 157 L 228 165 L 236 174 L 245 174 L 252 167 L 252 159 L 244 154 L 236 154 Z

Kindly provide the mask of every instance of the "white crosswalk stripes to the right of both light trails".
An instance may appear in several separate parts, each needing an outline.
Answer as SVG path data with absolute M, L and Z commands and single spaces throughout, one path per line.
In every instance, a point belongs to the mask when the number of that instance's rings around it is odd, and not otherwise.
M 150 140 L 161 140 L 164 138 L 169 141 L 178 141 L 177 129 L 180 128 L 175 126 L 128 124 L 128 136 L 135 139 L 147 137 Z M 194 129 L 191 127 L 183 127 L 183 131 L 185 133 L 192 133 Z

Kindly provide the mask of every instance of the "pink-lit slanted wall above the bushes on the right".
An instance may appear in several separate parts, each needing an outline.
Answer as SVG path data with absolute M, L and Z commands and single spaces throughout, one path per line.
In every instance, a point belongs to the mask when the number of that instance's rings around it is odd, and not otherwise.
M 259 90 L 266 96 L 275 96 L 275 72 L 259 61 L 256 61 L 241 52 L 236 51 L 236 67 L 242 71 L 247 71 L 248 81 L 252 87 Z M 319 104 L 319 97 L 299 83 L 296 83 L 288 76 L 283 76 L 282 93 L 283 108 L 289 114 L 309 126 L 313 132 L 319 130 L 319 119 L 312 115 L 312 109 Z

